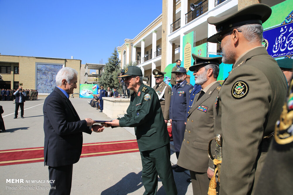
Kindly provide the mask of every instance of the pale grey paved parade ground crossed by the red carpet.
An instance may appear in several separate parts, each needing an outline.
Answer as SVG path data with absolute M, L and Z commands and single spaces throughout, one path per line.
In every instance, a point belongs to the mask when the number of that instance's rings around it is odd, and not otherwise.
M 44 98 L 24 103 L 24 117 L 13 119 L 15 104 L 1 101 L 6 132 L 0 133 L 0 194 L 48 194 L 48 167 L 44 166 Z M 111 120 L 89 106 L 90 99 L 71 98 L 81 120 Z M 176 156 L 171 151 L 172 165 Z M 178 194 L 193 194 L 185 172 L 174 172 Z M 143 194 L 142 163 L 134 128 L 105 128 L 83 133 L 83 151 L 73 165 L 71 194 Z M 166 194 L 158 179 L 158 193 Z M 49 181 L 50 182 L 50 181 Z

